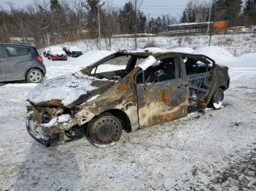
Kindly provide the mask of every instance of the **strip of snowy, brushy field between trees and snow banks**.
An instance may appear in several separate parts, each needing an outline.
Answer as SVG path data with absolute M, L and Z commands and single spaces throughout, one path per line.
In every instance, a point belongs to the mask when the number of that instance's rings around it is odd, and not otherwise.
M 102 39 L 102 47 L 109 50 L 108 40 Z M 209 36 L 154 36 L 138 38 L 138 47 L 144 48 L 152 46 L 172 49 L 179 47 L 189 47 L 197 49 L 198 47 L 206 47 L 209 43 Z M 153 45 L 154 44 L 154 45 Z M 93 39 L 84 39 L 78 42 L 67 42 L 61 46 L 68 47 L 70 45 L 78 46 L 84 52 L 97 50 L 97 43 Z M 256 52 L 256 34 L 219 34 L 211 37 L 211 45 L 224 47 L 229 50 L 232 55 L 242 55 L 248 52 Z M 133 38 L 114 38 L 111 40 L 111 50 L 132 50 L 135 48 L 135 40 Z

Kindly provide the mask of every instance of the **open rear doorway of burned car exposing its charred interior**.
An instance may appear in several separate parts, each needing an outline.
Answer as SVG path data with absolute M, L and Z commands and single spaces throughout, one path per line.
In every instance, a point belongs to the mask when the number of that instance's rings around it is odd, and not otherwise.
M 202 106 L 203 99 L 212 87 L 214 62 L 202 56 L 186 55 L 183 61 L 189 81 L 189 111 Z

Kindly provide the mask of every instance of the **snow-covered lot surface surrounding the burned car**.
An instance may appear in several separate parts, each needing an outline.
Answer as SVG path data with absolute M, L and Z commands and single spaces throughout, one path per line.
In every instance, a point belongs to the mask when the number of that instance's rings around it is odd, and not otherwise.
M 1 85 L 0 190 L 256 190 L 256 54 L 235 58 L 217 47 L 196 51 L 230 67 L 224 107 L 124 133 L 107 149 L 85 138 L 43 147 L 25 128 L 26 99 L 35 85 Z M 45 60 L 47 78 L 110 53 Z

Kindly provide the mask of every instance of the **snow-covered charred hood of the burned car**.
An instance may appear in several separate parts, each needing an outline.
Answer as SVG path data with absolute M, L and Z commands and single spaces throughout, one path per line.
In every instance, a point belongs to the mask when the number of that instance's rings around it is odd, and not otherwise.
M 37 85 L 29 93 L 29 102 L 39 106 L 73 108 L 93 100 L 114 84 L 108 79 L 98 79 L 81 72 L 57 77 Z

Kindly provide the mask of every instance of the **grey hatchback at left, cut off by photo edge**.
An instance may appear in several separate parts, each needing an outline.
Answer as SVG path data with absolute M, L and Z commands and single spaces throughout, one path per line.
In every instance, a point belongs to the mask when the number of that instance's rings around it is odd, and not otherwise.
M 0 82 L 26 79 L 29 83 L 39 83 L 45 74 L 45 65 L 36 47 L 0 43 Z

